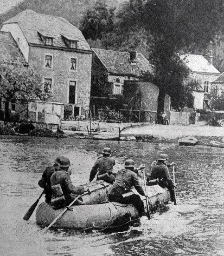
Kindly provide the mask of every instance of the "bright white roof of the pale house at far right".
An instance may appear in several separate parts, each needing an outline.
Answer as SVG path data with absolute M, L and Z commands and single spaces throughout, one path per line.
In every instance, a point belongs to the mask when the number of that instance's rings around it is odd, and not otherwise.
M 218 69 L 216 69 L 213 65 L 210 65 L 202 55 L 184 54 L 180 56 L 180 59 L 184 61 L 186 66 L 192 72 L 220 74 Z

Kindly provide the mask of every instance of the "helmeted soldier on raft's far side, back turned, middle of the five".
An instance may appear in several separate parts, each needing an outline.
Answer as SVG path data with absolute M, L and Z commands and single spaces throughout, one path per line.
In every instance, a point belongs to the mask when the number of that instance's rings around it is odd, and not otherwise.
M 115 165 L 115 160 L 111 157 L 111 149 L 103 148 L 102 156 L 99 157 L 93 168 L 90 171 L 90 182 L 97 175 L 97 180 L 104 180 L 105 182 L 113 183 L 115 181 L 115 174 L 113 173 L 113 166 Z

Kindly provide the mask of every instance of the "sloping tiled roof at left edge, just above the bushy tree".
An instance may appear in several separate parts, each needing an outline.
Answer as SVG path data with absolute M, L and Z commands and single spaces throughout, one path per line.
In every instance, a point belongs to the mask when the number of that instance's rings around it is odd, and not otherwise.
M 27 64 L 10 32 L 0 31 L 0 60 Z

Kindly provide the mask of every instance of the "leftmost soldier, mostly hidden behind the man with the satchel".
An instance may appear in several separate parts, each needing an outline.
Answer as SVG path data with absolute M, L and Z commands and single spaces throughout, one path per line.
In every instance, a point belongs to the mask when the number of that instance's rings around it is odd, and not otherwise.
M 55 161 L 53 166 L 49 166 L 45 169 L 41 180 L 38 181 L 38 185 L 45 189 L 45 202 L 50 203 L 51 202 L 51 175 L 59 170 L 60 168 L 58 167 L 58 162 L 60 161 L 60 157 L 58 156 Z

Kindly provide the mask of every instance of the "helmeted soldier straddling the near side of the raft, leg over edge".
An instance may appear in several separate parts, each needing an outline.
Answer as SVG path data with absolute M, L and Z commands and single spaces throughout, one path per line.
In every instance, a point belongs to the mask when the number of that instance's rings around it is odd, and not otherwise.
M 131 188 L 134 186 L 140 195 L 145 195 L 138 176 L 134 172 L 134 161 L 131 159 L 126 160 L 124 166 L 124 169 L 117 172 L 115 182 L 109 190 L 109 201 L 133 204 L 139 215 L 142 216 L 144 214 L 144 204 L 140 196 L 130 193 Z M 142 168 L 145 168 L 145 165 L 141 165 L 138 169 Z

